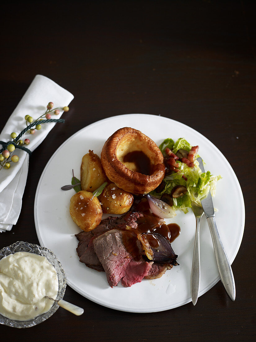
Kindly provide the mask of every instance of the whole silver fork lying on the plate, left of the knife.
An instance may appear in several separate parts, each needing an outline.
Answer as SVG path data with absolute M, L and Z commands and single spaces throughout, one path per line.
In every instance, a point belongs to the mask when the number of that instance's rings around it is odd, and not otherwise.
M 196 305 L 199 286 L 200 286 L 200 246 L 199 246 L 199 229 L 200 229 L 200 219 L 203 215 L 203 208 L 195 202 L 191 202 L 191 208 L 196 216 L 196 237 L 195 246 L 193 254 L 193 262 L 191 269 L 191 281 L 190 281 L 190 291 L 191 298 L 194 305 Z

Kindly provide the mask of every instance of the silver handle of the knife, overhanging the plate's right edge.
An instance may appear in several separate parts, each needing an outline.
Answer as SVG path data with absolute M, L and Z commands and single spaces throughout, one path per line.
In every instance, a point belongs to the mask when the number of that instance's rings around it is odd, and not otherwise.
M 225 290 L 227 291 L 227 294 L 229 295 L 229 298 L 232 301 L 234 301 L 236 298 L 234 276 L 233 276 L 233 272 L 230 266 L 230 262 L 227 257 L 227 253 L 222 245 L 221 238 L 219 236 L 217 224 L 215 221 L 215 216 L 208 217 L 207 221 L 208 221 L 211 236 L 212 236 L 215 258 L 216 258 L 217 267 L 218 267 L 219 275 L 221 277 L 222 284 L 224 285 Z

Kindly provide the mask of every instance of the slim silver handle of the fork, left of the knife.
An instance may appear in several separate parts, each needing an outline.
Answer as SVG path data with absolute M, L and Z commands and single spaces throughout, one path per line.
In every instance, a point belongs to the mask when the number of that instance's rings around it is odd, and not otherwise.
M 194 246 L 194 254 L 193 254 L 193 262 L 191 269 L 191 281 L 190 281 L 190 291 L 191 298 L 194 305 L 196 305 L 199 287 L 200 287 L 200 245 L 199 245 L 199 227 L 200 227 L 200 219 L 196 218 L 196 237 L 195 237 L 195 246 Z

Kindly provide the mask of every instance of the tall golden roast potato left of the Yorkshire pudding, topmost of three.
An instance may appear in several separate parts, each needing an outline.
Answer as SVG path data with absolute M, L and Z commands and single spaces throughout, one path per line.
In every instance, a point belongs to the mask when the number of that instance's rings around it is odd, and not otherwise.
M 93 151 L 85 154 L 81 163 L 81 189 L 94 192 L 107 181 L 100 158 Z

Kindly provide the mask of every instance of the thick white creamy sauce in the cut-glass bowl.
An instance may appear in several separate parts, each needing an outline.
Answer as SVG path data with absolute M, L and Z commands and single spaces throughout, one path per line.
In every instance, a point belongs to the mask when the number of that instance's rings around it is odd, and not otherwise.
M 16 252 L 0 260 L 0 313 L 29 320 L 49 311 L 59 288 L 55 268 L 41 255 Z

